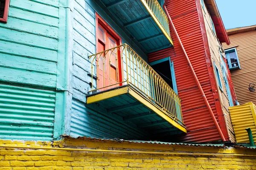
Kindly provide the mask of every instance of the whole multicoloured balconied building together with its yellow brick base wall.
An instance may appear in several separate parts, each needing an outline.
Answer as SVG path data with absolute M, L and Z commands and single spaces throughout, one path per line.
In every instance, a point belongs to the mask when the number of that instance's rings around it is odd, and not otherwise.
M 255 167 L 255 147 L 229 145 L 236 94 L 214 0 L 0 10 L 2 170 Z M 228 144 L 190 144 L 209 142 Z

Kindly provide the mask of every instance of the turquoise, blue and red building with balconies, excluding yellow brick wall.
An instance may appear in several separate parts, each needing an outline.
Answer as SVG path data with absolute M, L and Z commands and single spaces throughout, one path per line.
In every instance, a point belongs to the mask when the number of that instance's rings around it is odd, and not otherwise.
M 2 139 L 235 142 L 214 1 L 4 5 Z

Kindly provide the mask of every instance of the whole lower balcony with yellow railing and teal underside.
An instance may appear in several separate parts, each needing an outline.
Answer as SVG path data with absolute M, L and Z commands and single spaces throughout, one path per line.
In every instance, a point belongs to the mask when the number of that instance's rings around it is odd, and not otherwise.
M 156 136 L 186 133 L 180 97 L 129 45 L 89 56 L 91 91 L 87 104 Z

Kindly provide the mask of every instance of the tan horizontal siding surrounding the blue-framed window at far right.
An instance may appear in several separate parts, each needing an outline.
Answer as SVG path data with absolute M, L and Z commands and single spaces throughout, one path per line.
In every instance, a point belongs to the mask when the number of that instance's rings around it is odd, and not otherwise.
M 223 44 L 223 47 L 225 50 L 236 48 L 241 66 L 241 69 L 230 71 L 238 102 L 256 104 L 256 92 L 248 90 L 250 83 L 256 84 L 256 31 L 229 35 L 229 39 L 230 45 Z

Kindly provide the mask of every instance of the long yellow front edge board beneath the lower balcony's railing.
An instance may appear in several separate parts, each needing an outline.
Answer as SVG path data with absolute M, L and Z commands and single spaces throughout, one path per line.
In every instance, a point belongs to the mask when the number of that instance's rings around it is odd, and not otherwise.
M 161 116 L 167 122 L 169 122 L 171 125 L 173 125 L 174 127 L 178 128 L 179 130 L 187 133 L 186 127 L 183 127 L 182 125 L 177 123 L 174 119 L 172 119 L 170 116 L 166 115 L 166 113 L 161 108 L 156 107 L 154 104 L 149 102 L 148 99 L 146 99 L 144 96 L 142 96 L 141 94 L 138 94 L 136 91 L 134 91 L 131 88 L 129 88 L 129 92 L 128 93 L 131 96 L 133 96 L 135 99 L 140 101 L 143 105 L 145 105 L 146 107 L 148 107 L 149 109 L 151 109 L 152 111 L 157 113 L 159 116 Z

